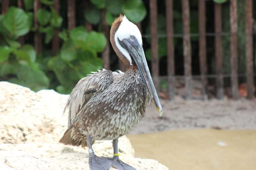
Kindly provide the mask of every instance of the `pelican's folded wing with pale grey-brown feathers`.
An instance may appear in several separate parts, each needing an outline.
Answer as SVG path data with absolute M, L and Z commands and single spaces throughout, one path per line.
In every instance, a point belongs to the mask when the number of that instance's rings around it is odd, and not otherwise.
M 99 70 L 82 78 L 72 90 L 63 113 L 68 111 L 68 128 L 73 120 L 79 115 L 81 109 L 98 92 L 106 89 L 114 81 L 113 72 Z

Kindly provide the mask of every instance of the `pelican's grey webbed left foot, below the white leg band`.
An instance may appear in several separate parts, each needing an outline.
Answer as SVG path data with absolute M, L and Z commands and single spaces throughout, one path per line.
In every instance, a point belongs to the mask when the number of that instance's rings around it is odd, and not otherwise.
M 109 170 L 112 164 L 113 160 L 98 157 L 94 153 L 89 155 L 90 170 Z

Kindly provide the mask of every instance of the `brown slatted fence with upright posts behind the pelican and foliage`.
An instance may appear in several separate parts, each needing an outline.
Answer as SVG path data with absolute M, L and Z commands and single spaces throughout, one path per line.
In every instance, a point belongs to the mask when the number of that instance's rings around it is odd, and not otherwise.
M 59 0 L 53 0 L 54 9 L 59 14 Z M 68 0 L 68 30 L 72 30 L 76 26 L 75 11 L 76 1 Z M 218 99 L 222 99 L 224 96 L 223 92 L 223 77 L 225 76 L 222 72 L 222 36 L 228 34 L 230 36 L 230 66 L 231 66 L 231 89 L 232 98 L 238 99 L 238 71 L 237 71 L 237 1 L 230 0 L 230 32 L 223 33 L 221 25 L 221 4 L 214 3 L 215 13 L 215 32 L 206 33 L 206 9 L 205 0 L 198 0 L 198 34 L 190 34 L 190 9 L 189 0 L 181 0 L 182 4 L 182 22 L 183 22 L 183 34 L 174 34 L 174 22 L 173 22 L 173 2 L 174 0 L 165 0 L 166 8 L 166 31 L 167 31 L 167 79 L 168 79 L 168 96 L 172 100 L 175 96 L 175 82 L 177 77 L 175 75 L 175 48 L 174 48 L 174 37 L 181 36 L 183 38 L 183 57 L 184 57 L 184 82 L 185 82 L 185 97 L 186 99 L 192 98 L 192 86 L 193 86 L 193 75 L 192 75 L 192 61 L 191 61 L 191 36 L 199 36 L 199 62 L 200 62 L 200 80 L 201 80 L 201 93 L 203 99 L 208 98 L 208 78 L 207 75 L 207 42 L 206 36 L 215 36 L 215 59 L 216 59 L 216 75 L 211 75 L 216 78 L 216 96 Z M 87 2 L 85 2 L 87 3 Z M 157 0 L 149 0 L 149 13 L 150 13 L 150 29 L 151 29 L 151 46 L 152 46 L 152 77 L 159 89 L 159 61 L 158 61 L 158 31 L 157 31 Z M 4 14 L 9 6 L 9 0 L 2 0 L 2 14 Z M 23 8 L 23 0 L 18 0 L 18 6 Z M 39 0 L 34 0 L 34 13 L 36 14 L 40 8 Z M 246 88 L 248 92 L 248 98 L 253 100 L 255 98 L 255 84 L 254 84 L 254 61 L 253 61 L 253 1 L 246 0 Z M 86 5 L 85 5 L 86 10 Z M 105 18 L 106 12 L 102 10 L 102 18 Z M 102 32 L 105 36 L 109 37 L 109 26 L 106 21 L 102 20 Z M 137 23 L 138 27 L 141 28 L 140 23 Z M 34 15 L 34 26 L 37 28 L 39 23 L 36 15 Z M 85 22 L 85 27 L 88 31 L 92 30 L 92 25 Z M 55 55 L 59 50 L 59 30 L 55 30 L 55 34 L 52 40 L 52 54 Z M 19 41 L 24 44 L 24 37 L 20 37 Z M 35 49 L 40 54 L 42 52 L 42 38 L 39 32 L 35 32 L 34 35 Z M 107 42 L 107 47 L 102 53 L 103 67 L 106 69 L 110 68 L 110 44 Z M 123 65 L 120 65 L 123 69 Z

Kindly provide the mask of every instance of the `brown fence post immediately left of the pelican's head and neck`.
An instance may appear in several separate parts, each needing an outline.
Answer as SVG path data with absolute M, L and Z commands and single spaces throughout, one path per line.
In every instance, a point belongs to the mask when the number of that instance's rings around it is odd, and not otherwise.
M 109 62 L 109 55 L 110 55 L 110 48 L 109 48 L 109 26 L 105 20 L 106 18 L 106 10 L 102 10 L 101 12 L 101 21 L 102 21 L 102 33 L 105 35 L 107 39 L 106 48 L 102 52 L 102 59 L 103 59 L 103 68 L 110 69 L 110 62 Z

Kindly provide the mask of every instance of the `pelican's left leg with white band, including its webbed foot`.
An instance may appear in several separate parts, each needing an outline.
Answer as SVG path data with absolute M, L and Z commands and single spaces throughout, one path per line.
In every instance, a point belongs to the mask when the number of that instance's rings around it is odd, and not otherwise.
M 90 170 L 108 170 L 110 169 L 113 160 L 110 159 L 105 159 L 102 157 L 98 157 L 97 155 L 94 154 L 93 148 L 92 148 L 92 140 L 91 136 L 86 136 L 87 137 L 87 145 L 89 147 L 89 166 Z

